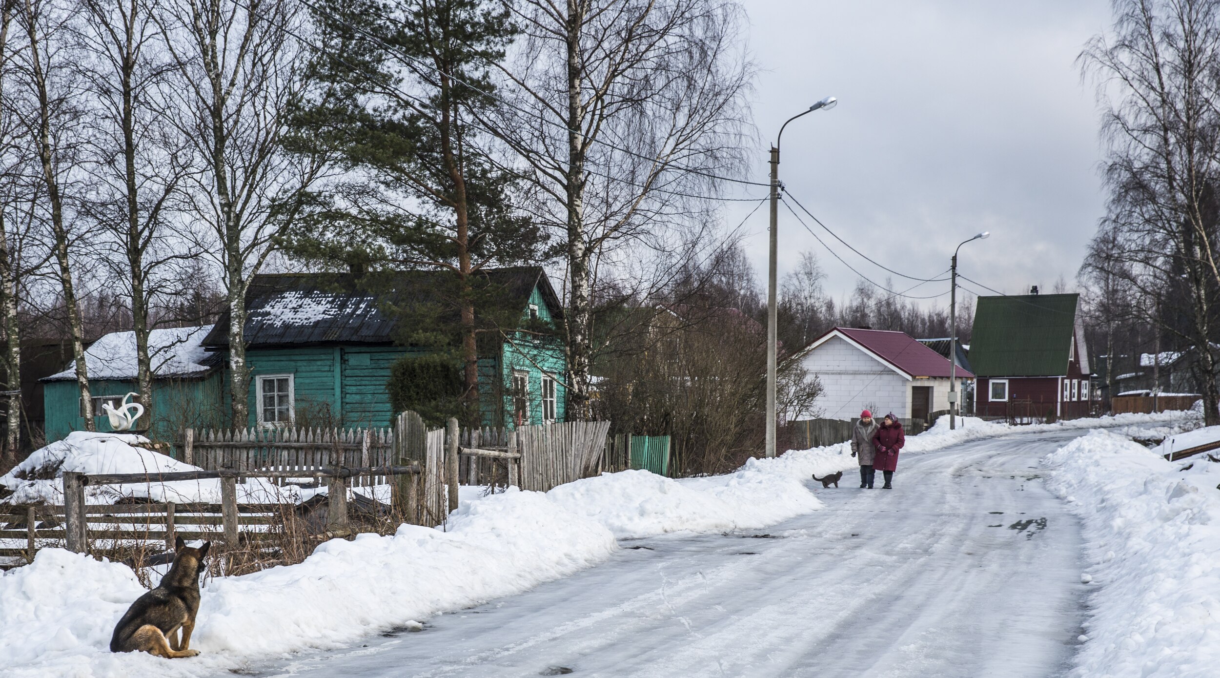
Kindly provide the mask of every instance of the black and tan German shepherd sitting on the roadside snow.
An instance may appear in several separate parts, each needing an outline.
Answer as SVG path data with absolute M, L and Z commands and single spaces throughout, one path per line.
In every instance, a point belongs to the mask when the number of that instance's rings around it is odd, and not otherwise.
M 110 638 L 111 652 L 142 650 L 159 657 L 193 657 L 190 632 L 195 629 L 199 612 L 199 574 L 211 541 L 193 549 L 179 537 L 173 545 L 173 565 L 161 578 L 161 584 L 135 599 L 127 613 L 118 619 Z M 182 640 L 178 640 L 182 629 Z

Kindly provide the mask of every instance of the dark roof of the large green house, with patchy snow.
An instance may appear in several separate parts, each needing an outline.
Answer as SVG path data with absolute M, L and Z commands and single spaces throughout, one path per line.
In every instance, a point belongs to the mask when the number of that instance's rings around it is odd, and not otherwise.
M 395 306 L 443 301 L 443 271 L 400 271 L 356 276 L 353 273 L 276 273 L 255 276 L 245 295 L 248 346 L 393 344 L 398 321 Z M 551 315 L 562 309 L 542 267 L 520 266 L 479 272 L 498 285 L 505 307 L 521 310 L 539 287 Z M 204 338 L 204 345 L 228 345 L 226 312 Z

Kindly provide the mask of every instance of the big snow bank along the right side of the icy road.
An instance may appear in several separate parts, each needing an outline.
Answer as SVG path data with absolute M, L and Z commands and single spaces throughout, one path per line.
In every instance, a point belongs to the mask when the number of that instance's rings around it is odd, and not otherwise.
M 1047 456 L 1094 587 L 1074 676 L 1190 678 L 1220 662 L 1220 465 L 1094 430 Z

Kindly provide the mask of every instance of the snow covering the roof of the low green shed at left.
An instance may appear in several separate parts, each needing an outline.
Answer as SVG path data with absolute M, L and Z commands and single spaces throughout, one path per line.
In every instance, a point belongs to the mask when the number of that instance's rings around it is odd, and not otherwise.
M 174 327 L 154 329 L 149 333 L 149 360 L 155 377 L 185 377 L 203 374 L 210 368 L 201 365 L 206 357 L 204 337 L 212 326 Z M 90 379 L 134 379 L 135 333 L 112 332 L 102 335 L 84 351 L 84 363 L 89 368 Z M 51 374 L 44 380 L 59 382 L 76 379 L 76 361 L 63 372 Z

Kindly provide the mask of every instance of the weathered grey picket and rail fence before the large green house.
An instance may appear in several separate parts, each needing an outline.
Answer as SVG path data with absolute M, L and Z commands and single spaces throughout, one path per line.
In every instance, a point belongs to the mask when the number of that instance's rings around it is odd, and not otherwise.
M 274 504 L 239 504 L 238 484 L 251 478 L 326 485 L 325 537 L 350 534 L 348 488 L 373 484 L 390 487 L 392 504 L 405 522 L 433 527 L 458 507 L 461 480 L 484 484 L 503 469 L 506 484 L 545 491 L 597 474 L 610 427 L 572 422 L 460 432 L 451 423 L 448 430 L 428 430 L 417 413 L 403 412 L 393 429 L 188 429 L 178 446 L 182 461 L 201 471 L 63 473 L 63 506 L 0 506 L 0 541 L 26 541 L 23 548 L 0 548 L 0 556 L 33 558 L 38 544 L 48 541 L 85 552 L 104 539 L 172 544 L 181 535 L 233 545 L 257 540 L 294 505 L 287 495 L 268 498 Z M 207 479 L 220 480 L 220 504 L 87 505 L 84 499 L 88 485 Z M 251 528 L 242 532 L 239 526 Z

